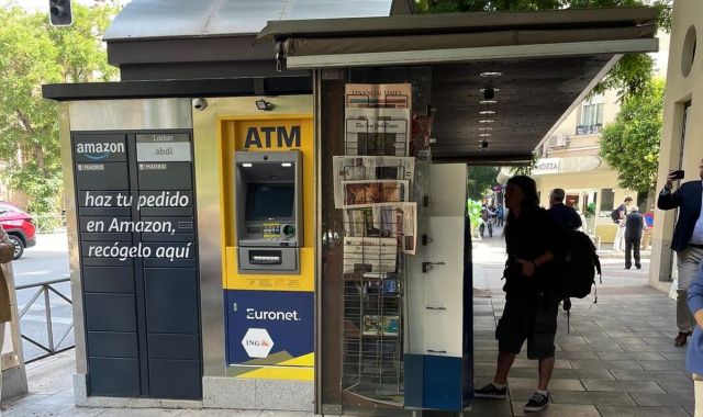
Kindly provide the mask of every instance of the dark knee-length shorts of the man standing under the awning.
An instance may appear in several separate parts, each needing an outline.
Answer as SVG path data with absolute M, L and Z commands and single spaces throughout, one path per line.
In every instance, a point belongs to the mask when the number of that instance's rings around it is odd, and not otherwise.
M 551 294 L 509 294 L 495 329 L 499 350 L 518 354 L 527 340 L 527 359 L 553 358 L 558 309 L 559 298 Z

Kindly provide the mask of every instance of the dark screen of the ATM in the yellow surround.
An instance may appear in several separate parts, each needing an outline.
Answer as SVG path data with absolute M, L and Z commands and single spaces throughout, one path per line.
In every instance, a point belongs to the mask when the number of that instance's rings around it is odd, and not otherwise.
M 293 183 L 263 184 L 247 187 L 246 219 L 286 219 L 293 217 L 295 204 Z

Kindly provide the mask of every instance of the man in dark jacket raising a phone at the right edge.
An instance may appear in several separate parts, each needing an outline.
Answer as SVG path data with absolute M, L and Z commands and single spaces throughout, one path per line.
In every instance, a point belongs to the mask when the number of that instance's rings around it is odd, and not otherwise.
M 660 210 L 679 208 L 679 218 L 671 239 L 671 249 L 677 251 L 679 283 L 677 288 L 677 326 L 679 335 L 674 345 L 684 346 L 691 336 L 694 322 L 687 305 L 687 293 L 695 271 L 703 259 L 703 160 L 699 166 L 701 180 L 687 181 L 672 192 L 673 181 L 683 179 L 683 171 L 671 171 L 657 199 Z

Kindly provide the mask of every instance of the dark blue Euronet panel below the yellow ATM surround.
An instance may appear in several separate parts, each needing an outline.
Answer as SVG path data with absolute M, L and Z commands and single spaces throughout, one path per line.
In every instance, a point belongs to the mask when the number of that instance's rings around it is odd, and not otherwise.
M 313 352 L 314 293 L 225 290 L 225 300 L 228 364 L 275 364 Z M 249 329 L 268 333 L 272 348 L 266 358 L 250 357 L 244 349 Z

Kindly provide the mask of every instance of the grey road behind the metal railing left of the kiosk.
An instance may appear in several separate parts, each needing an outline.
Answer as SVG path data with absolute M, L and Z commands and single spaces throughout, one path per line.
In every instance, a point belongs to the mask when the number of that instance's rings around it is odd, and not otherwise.
M 69 277 L 68 272 L 68 241 L 66 233 L 37 235 L 36 246 L 24 251 L 22 258 L 12 262 L 14 285 L 22 286 L 46 281 L 54 281 Z M 56 291 L 70 298 L 70 284 L 63 282 L 52 285 Z M 41 286 L 18 290 L 18 308 L 25 308 Z M 22 316 L 20 324 L 22 334 L 48 347 L 46 327 L 45 295 L 41 294 Z M 62 297 L 49 292 L 51 315 L 53 322 L 54 345 L 56 349 L 74 345 L 71 306 Z M 70 329 L 70 331 L 69 331 Z M 65 339 L 62 341 L 62 338 Z M 46 353 L 43 349 L 27 340 L 22 340 L 24 360 L 41 357 Z M 60 343 L 59 343 L 60 342 Z

